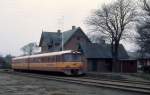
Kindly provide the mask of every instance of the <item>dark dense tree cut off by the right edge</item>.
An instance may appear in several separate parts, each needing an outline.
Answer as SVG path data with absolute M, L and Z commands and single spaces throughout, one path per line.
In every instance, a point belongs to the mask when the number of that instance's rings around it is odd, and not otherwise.
M 142 0 L 142 9 L 144 19 L 140 20 L 140 25 L 137 26 L 137 44 L 140 46 L 139 53 L 141 57 L 150 54 L 150 2 L 148 0 Z

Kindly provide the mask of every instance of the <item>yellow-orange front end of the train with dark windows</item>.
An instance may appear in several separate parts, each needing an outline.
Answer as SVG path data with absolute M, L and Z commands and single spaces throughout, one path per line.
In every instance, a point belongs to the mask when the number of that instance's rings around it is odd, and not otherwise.
M 63 72 L 66 75 L 83 75 L 86 73 L 86 63 L 79 52 L 63 55 Z

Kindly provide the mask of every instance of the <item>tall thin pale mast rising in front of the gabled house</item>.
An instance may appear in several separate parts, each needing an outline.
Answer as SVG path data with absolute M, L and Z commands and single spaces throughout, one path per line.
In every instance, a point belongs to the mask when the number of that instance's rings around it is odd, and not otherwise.
M 62 31 L 62 35 L 61 35 L 61 50 L 64 50 L 64 36 L 63 36 L 63 28 L 64 28 L 64 16 L 61 16 L 61 18 L 58 19 L 58 28 Z

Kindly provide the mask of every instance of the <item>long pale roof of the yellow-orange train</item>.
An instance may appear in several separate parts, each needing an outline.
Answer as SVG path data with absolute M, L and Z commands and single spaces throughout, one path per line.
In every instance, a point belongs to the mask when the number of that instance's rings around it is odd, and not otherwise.
M 13 58 L 13 60 L 26 59 L 26 58 L 36 58 L 36 57 L 46 57 L 46 56 L 54 56 L 54 55 L 62 55 L 62 54 L 73 53 L 73 52 L 75 52 L 75 51 L 65 50 L 65 51 L 58 51 L 58 52 L 42 53 L 42 54 L 36 54 L 36 55 L 30 55 L 30 56 L 15 57 L 15 58 Z M 77 53 L 79 53 L 79 52 L 77 52 Z

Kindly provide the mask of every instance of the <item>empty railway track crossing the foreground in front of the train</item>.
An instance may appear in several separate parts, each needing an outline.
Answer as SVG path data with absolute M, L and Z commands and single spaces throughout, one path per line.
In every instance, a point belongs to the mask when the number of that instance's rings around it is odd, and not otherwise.
M 9 74 L 20 75 L 20 76 L 75 83 L 75 84 L 88 85 L 88 86 L 118 89 L 118 90 L 138 92 L 138 93 L 150 95 L 150 85 L 145 85 L 145 84 L 136 84 L 131 82 L 129 83 L 129 82 L 119 82 L 119 81 L 110 81 L 110 80 L 96 80 L 96 79 L 90 79 L 85 77 L 81 77 L 81 78 L 64 77 L 64 76 L 58 77 L 58 76 L 50 76 L 50 75 L 35 74 L 35 73 L 33 74 L 33 73 L 22 73 L 22 72 L 13 72 L 13 71 L 4 71 L 4 72 Z

